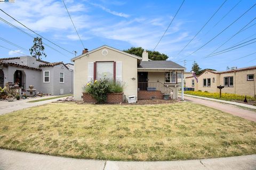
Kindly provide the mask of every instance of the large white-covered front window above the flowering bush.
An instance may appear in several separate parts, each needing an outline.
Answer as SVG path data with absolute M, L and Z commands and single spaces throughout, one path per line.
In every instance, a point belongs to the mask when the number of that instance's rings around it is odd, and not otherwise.
M 97 79 L 114 79 L 114 63 L 113 62 L 97 62 Z

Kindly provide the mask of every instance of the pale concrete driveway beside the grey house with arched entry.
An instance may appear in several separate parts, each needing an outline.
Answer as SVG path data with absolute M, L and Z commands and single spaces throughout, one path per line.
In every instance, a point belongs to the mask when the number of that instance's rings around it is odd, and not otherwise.
M 15 101 L 10 101 L 10 102 L 9 101 L 0 101 L 0 115 L 10 113 L 13 111 L 18 111 L 18 110 L 25 109 L 25 108 L 29 108 L 29 107 L 40 106 L 40 105 L 44 105 L 47 103 L 52 103 L 53 101 L 67 98 L 67 97 L 61 97 L 61 98 L 57 98 L 57 99 L 50 99 L 50 100 L 38 101 L 35 103 L 28 103 L 28 101 L 44 99 L 44 98 L 51 98 L 51 97 L 55 97 L 55 96 L 33 98 L 33 99 L 28 99 L 28 100 L 15 100 Z

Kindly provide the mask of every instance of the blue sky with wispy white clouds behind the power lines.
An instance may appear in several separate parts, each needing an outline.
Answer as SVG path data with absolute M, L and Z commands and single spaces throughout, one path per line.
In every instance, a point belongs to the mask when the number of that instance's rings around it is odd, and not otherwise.
M 92 50 L 108 45 L 120 50 L 131 47 L 153 50 L 182 1 L 65 0 L 65 3 L 85 48 Z M 256 5 L 252 7 L 256 1 L 226 0 L 224 2 L 225 0 L 185 0 L 155 50 L 166 54 L 169 56 L 168 60 L 180 65 L 184 65 L 184 60 L 186 60 L 187 71 L 191 71 L 194 61 L 201 69 L 218 71 L 226 70 L 227 66 L 241 68 L 256 65 L 256 43 L 253 43 L 256 38 L 256 24 L 253 25 L 256 23 Z M 221 5 L 219 11 L 205 25 Z M 39 35 L 66 49 L 43 39 L 47 54 L 45 58 L 42 58 L 43 60 L 71 63 L 70 59 L 75 57 L 71 53 L 74 51 L 77 55 L 82 53 L 84 47 L 61 0 L 15 0 L 14 3 L 0 3 L 0 8 Z M 245 13 L 247 10 L 249 11 Z M 245 14 L 239 18 L 243 13 Z M 0 11 L 0 17 L 36 37 L 35 33 L 24 28 L 2 11 Z M 202 31 L 193 39 L 204 25 Z M 242 28 L 245 30 L 239 32 Z M 2 20 L 0 20 L 0 30 L 0 58 L 30 55 L 28 49 L 33 45 L 33 37 Z M 221 31 L 223 32 L 220 33 Z M 6 43 L 2 40 L 3 38 L 22 48 Z M 193 39 L 191 43 L 179 53 L 191 39 Z M 207 43 L 209 41 L 210 43 Z M 221 46 L 226 41 L 227 43 Z M 252 44 L 246 45 L 246 41 Z M 245 43 L 242 45 L 246 46 L 207 57 L 219 46 L 221 47 L 215 52 L 241 43 Z

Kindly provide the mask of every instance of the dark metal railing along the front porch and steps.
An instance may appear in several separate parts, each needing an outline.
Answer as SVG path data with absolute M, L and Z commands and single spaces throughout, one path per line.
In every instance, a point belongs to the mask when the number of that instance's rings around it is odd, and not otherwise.
M 164 94 L 171 94 L 173 89 L 161 82 L 138 82 L 138 90 L 161 91 Z

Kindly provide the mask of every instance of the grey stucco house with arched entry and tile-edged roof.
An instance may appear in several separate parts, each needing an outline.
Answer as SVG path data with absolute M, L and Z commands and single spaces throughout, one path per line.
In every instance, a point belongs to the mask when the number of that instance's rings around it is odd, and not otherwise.
M 74 71 L 62 62 L 49 63 L 31 56 L 0 58 L 0 86 L 18 83 L 26 92 L 33 85 L 36 93 L 73 94 Z M 27 93 L 28 94 L 28 93 Z

